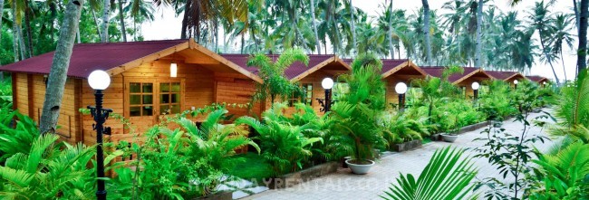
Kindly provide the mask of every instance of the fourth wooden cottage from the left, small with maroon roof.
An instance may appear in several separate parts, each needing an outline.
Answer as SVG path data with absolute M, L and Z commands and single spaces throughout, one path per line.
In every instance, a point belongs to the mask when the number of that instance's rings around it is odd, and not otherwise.
M 442 72 L 446 67 L 423 67 L 421 69 L 426 71 L 430 76 L 441 78 Z M 448 81 L 464 90 L 467 98 L 472 98 L 474 96 L 474 90 L 472 90 L 471 87 L 473 82 L 478 82 L 482 87 L 485 81 L 493 79 L 493 77 L 486 71 L 483 71 L 483 69 L 474 67 L 463 67 L 463 69 L 464 73 L 452 74 L 449 76 Z

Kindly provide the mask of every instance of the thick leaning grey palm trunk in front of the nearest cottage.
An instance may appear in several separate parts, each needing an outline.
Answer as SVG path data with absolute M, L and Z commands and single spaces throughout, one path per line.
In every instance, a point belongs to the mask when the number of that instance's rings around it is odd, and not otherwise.
M 84 0 L 71 0 L 63 14 L 57 47 L 53 55 L 53 63 L 49 72 L 47 91 L 43 102 L 43 113 L 39 122 L 42 134 L 54 133 L 59 118 L 59 110 L 63 100 L 63 89 L 67 80 L 67 70 L 72 57 L 73 41 L 80 23 L 80 14 Z

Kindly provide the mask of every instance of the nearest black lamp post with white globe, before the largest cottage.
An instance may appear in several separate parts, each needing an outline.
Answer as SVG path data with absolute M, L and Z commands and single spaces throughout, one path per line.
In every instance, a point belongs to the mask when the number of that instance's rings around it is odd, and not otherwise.
M 106 189 L 104 188 L 104 155 L 102 152 L 102 133 L 105 132 L 104 130 L 104 122 L 106 119 L 109 118 L 109 113 L 112 110 L 103 109 L 102 108 L 102 98 L 104 94 L 102 90 L 105 90 L 111 84 L 111 76 L 105 71 L 92 71 L 90 76 L 88 76 L 88 83 L 90 87 L 94 89 L 94 98 L 96 100 L 96 107 L 88 106 L 88 109 L 91 110 L 92 117 L 96 122 L 95 125 L 92 125 L 94 129 L 96 129 L 96 143 L 98 146 L 96 147 L 96 177 L 97 177 L 97 185 L 98 190 L 96 191 L 96 198 L 99 200 L 106 199 Z M 105 133 L 109 133 L 110 128 L 106 129 Z

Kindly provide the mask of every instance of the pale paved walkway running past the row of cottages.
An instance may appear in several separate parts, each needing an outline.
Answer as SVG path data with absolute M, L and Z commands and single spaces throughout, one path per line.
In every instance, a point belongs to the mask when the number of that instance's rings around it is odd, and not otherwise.
M 539 114 L 532 114 L 529 119 L 536 116 L 539 116 Z M 503 128 L 515 133 L 520 132 L 523 126 L 518 122 L 509 120 L 504 123 Z M 437 148 L 444 148 L 449 145 L 459 148 L 482 146 L 483 142 L 472 140 L 482 137 L 483 135 L 480 132 L 483 129 L 485 128 L 464 133 L 454 143 L 431 142 L 419 149 L 381 158 L 367 175 L 353 175 L 350 169 L 340 168 L 336 173 L 329 176 L 319 177 L 304 184 L 285 189 L 267 190 L 256 195 L 247 196 L 244 199 L 381 199 L 378 195 L 382 195 L 382 192 L 387 190 L 391 183 L 396 183 L 395 178 L 399 177 L 400 173 L 419 176 Z M 531 135 L 546 135 L 546 131 L 538 128 L 531 129 L 529 133 Z M 548 141 L 545 144 L 537 143 L 535 146 L 543 150 L 550 147 L 551 144 L 552 142 Z M 475 162 L 479 167 L 478 178 L 499 177 L 495 167 L 491 167 L 486 159 L 479 158 Z

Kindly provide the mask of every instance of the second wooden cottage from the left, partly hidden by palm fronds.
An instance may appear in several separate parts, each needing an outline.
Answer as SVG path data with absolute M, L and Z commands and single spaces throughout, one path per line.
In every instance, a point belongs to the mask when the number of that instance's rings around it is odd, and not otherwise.
M 279 55 L 268 55 L 274 60 Z M 299 100 L 291 98 L 288 100 L 288 104 L 291 108 L 286 110 L 286 114 L 294 112 L 294 102 L 302 101 L 307 105 L 311 105 L 315 112 L 322 114 L 321 105 L 316 99 L 324 99 L 325 92 L 321 86 L 321 82 L 324 78 L 332 78 L 333 81 L 337 81 L 337 77 L 343 73 L 352 71 L 352 68 L 344 62 L 342 59 L 335 55 L 316 55 L 310 54 L 309 64 L 304 65 L 301 62 L 294 62 L 290 67 L 285 70 L 285 76 L 292 82 L 298 82 L 306 90 L 305 100 Z M 258 69 L 256 67 L 246 66 L 247 58 L 249 55 L 246 54 L 224 54 L 223 57 L 231 62 L 237 63 L 237 65 L 257 74 Z M 338 83 L 336 83 L 338 84 Z M 288 99 L 288 98 L 287 98 Z M 269 100 L 266 102 L 266 108 L 270 107 Z

